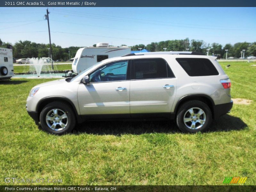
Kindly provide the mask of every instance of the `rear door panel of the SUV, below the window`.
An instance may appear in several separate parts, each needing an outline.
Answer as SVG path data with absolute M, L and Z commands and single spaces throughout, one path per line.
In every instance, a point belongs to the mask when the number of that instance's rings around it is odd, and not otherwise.
M 131 114 L 171 112 L 176 78 L 133 80 L 130 87 Z

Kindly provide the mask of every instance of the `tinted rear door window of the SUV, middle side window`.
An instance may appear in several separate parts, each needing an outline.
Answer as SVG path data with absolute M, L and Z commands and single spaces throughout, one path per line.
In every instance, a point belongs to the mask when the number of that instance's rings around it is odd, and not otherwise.
M 174 77 L 170 66 L 163 59 L 136 59 L 133 61 L 132 79 Z

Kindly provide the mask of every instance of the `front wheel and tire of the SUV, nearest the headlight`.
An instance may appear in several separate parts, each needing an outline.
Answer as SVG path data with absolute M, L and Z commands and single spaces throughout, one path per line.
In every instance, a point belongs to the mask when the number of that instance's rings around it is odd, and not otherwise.
M 71 132 L 76 126 L 73 109 L 64 102 L 47 104 L 40 113 L 42 129 L 55 135 Z

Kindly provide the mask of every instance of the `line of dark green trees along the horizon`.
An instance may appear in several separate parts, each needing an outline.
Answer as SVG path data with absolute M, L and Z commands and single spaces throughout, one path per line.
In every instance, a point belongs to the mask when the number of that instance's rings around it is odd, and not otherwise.
M 10 44 L 8 42 L 2 42 L 0 39 L 0 46 L 7 47 Z M 12 44 L 11 44 L 12 45 Z M 124 44 L 120 45 L 123 46 Z M 93 46 L 96 46 L 95 44 Z M 32 58 L 32 57 L 48 57 L 49 56 L 49 44 L 38 44 L 31 41 L 19 41 L 12 45 L 13 57 L 20 58 Z M 130 46 L 132 51 L 137 51 L 139 48 L 147 49 L 150 52 L 157 51 L 197 51 L 205 53 L 209 49 L 209 55 L 217 55 L 219 58 L 226 58 L 226 51 L 228 50 L 228 57 L 241 57 L 241 51 L 244 52 L 244 56 L 256 56 L 256 42 L 239 42 L 234 45 L 225 44 L 224 46 L 218 43 L 206 44 L 203 40 L 167 40 L 160 42 L 152 42 L 148 45 L 137 44 Z M 77 50 L 81 47 L 68 47 L 62 48 L 59 45 L 52 44 L 52 59 L 53 60 L 69 60 L 75 57 Z

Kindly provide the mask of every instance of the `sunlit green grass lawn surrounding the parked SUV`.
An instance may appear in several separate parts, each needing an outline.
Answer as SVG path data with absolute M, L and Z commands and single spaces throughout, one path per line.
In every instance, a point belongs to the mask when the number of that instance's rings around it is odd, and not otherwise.
M 181 133 L 172 121 L 109 121 L 50 135 L 25 109 L 31 87 L 49 79 L 1 82 L 0 185 L 5 177 L 62 179 L 62 185 L 222 185 L 228 176 L 246 176 L 245 184 L 255 185 L 256 67 L 230 64 L 221 66 L 232 97 L 253 102 L 234 104 L 229 115 L 197 134 Z

